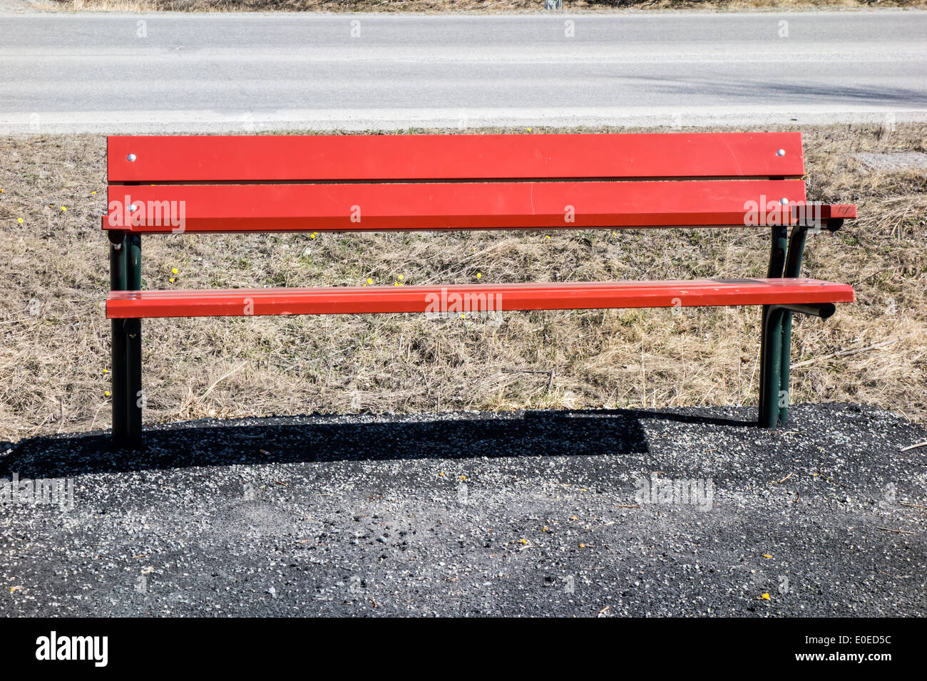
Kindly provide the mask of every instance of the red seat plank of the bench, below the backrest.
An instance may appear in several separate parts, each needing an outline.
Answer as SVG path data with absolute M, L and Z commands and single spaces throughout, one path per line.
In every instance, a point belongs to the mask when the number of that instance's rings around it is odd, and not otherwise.
M 110 319 L 369 312 L 669 308 L 853 302 L 853 288 L 814 279 L 703 279 L 211 291 L 113 291 Z

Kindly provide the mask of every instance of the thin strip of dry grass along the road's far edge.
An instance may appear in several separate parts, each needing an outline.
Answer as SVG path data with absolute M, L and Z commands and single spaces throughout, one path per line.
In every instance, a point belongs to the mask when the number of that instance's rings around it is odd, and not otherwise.
M 542 0 L 46 0 L 72 11 L 543 12 Z M 566 11 L 615 9 L 821 9 L 927 7 L 927 0 L 565 0 Z

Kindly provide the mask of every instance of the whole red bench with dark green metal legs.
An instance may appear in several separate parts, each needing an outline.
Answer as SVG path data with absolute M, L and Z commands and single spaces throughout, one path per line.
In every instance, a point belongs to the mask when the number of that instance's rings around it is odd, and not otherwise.
M 784 423 L 792 314 L 826 319 L 854 299 L 799 276 L 806 233 L 856 217 L 806 205 L 804 172 L 797 132 L 109 137 L 114 442 L 141 446 L 141 319 L 426 312 L 449 297 L 504 310 L 764 306 L 759 424 Z M 667 227 L 768 229 L 767 277 L 140 290 L 142 233 Z

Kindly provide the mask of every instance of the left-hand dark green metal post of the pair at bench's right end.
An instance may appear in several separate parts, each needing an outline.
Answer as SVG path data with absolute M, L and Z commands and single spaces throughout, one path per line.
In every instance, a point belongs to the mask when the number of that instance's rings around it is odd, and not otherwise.
M 788 228 L 776 225 L 772 228 L 772 243 L 769 248 L 767 277 L 777 279 L 785 267 L 785 248 Z M 779 424 L 779 390 L 781 372 L 782 316 L 773 314 L 771 306 L 763 306 L 759 350 L 759 425 L 774 428 Z M 773 331 L 775 330 L 775 331 Z

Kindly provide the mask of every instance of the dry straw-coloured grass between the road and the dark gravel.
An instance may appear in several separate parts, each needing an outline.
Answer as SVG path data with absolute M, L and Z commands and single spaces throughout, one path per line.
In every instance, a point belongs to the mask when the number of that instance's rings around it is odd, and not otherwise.
M 796 322 L 794 401 L 863 402 L 924 422 L 927 180 L 866 170 L 853 154 L 924 151 L 927 126 L 804 132 L 809 198 L 857 203 L 862 218 L 809 241 L 806 273 L 854 284 L 858 302 L 829 322 Z M 108 427 L 104 149 L 92 135 L 0 140 L 0 438 Z M 147 288 L 392 284 L 400 274 L 451 284 L 477 271 L 482 282 L 762 276 L 768 235 L 171 235 L 143 246 Z M 500 326 L 413 314 L 152 320 L 146 422 L 756 404 L 758 317 L 745 308 L 513 312 Z M 872 344 L 882 345 L 829 356 Z

